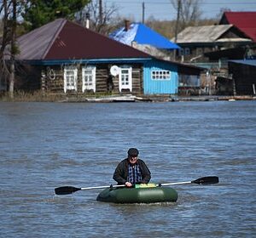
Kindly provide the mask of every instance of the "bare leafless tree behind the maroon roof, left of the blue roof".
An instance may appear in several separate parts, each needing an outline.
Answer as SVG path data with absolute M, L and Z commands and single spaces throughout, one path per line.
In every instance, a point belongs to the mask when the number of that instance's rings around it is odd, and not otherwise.
M 79 14 L 79 24 L 86 26 L 86 20 L 90 20 L 90 29 L 103 35 L 108 35 L 113 28 L 114 15 L 118 8 L 113 4 L 107 7 L 102 0 L 92 0 Z

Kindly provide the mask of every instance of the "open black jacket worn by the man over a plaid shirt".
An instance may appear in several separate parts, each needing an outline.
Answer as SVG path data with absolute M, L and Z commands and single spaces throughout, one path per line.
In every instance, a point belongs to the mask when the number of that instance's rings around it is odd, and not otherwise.
M 140 167 L 141 173 L 142 173 L 142 184 L 148 184 L 151 174 L 146 166 L 145 162 L 138 159 L 137 164 Z M 129 170 L 129 161 L 128 158 L 126 158 L 123 161 L 119 162 L 119 165 L 116 167 L 114 173 L 113 173 L 113 179 L 118 182 L 118 184 L 125 184 L 127 182 L 127 177 L 128 177 L 128 170 Z

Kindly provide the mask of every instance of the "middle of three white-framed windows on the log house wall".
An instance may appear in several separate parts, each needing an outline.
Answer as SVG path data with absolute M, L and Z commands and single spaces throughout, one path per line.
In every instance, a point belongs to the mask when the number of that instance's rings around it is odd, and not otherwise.
M 96 92 L 96 66 L 84 66 L 82 68 L 82 92 L 93 90 Z

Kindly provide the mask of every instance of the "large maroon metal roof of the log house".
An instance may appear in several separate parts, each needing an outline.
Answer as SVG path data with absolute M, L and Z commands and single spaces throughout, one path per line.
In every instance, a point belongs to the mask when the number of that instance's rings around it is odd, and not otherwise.
M 59 19 L 18 38 L 24 60 L 151 58 L 113 39 Z

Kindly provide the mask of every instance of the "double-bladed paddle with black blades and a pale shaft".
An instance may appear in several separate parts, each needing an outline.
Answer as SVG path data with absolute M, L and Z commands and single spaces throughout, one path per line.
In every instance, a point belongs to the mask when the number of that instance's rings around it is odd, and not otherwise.
M 197 179 L 189 181 L 189 182 L 177 182 L 177 183 L 170 183 L 170 184 L 154 184 L 154 186 L 152 186 L 152 184 L 151 184 L 151 186 L 148 186 L 148 187 L 171 186 L 171 185 L 177 185 L 177 184 L 201 184 L 201 185 L 218 184 L 218 177 L 217 176 L 208 176 L 208 177 L 197 178 Z M 119 187 L 125 187 L 125 184 L 87 187 L 87 188 L 76 188 L 76 187 L 72 187 L 72 186 L 64 186 L 64 187 L 55 188 L 55 194 L 56 195 L 67 195 L 67 194 L 72 194 L 79 190 L 97 190 L 97 189 L 119 188 Z M 139 187 L 139 184 L 137 187 Z

